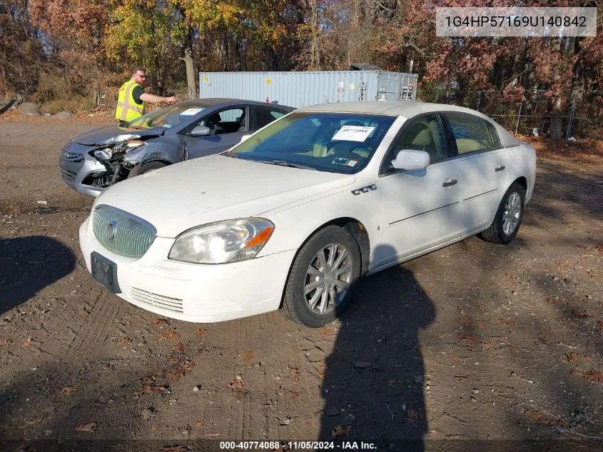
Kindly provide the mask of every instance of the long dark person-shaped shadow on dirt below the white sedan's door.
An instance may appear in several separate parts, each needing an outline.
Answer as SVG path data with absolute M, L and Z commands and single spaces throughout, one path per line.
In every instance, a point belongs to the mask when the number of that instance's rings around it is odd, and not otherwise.
M 434 320 L 435 306 L 407 268 L 359 281 L 325 360 L 319 441 L 424 449 L 428 386 L 419 331 Z

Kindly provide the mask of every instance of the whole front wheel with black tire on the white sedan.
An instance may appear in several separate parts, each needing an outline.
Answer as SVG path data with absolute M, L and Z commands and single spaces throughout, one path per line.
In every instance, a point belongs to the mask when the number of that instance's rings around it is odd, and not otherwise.
M 330 271 L 325 272 L 329 266 Z M 321 229 L 295 256 L 285 286 L 283 312 L 300 325 L 325 326 L 350 303 L 361 268 L 360 248 L 348 231 L 338 226 Z

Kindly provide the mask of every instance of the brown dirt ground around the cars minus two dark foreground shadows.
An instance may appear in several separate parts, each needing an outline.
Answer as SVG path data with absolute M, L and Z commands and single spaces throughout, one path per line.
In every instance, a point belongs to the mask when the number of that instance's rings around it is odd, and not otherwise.
M 280 312 L 194 324 L 131 306 L 84 268 L 91 200 L 62 184 L 58 159 L 93 126 L 0 119 L 2 450 L 603 437 L 603 154 L 539 142 L 513 243 L 474 237 L 367 278 L 325 328 Z

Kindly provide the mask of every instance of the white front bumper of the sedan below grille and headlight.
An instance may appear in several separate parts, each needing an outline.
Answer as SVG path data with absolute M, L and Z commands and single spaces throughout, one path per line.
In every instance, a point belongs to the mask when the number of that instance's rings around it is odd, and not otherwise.
M 80 227 L 80 247 L 91 271 L 96 251 L 117 264 L 124 300 L 161 316 L 210 323 L 275 311 L 295 250 L 249 261 L 201 265 L 167 258 L 173 238 L 156 237 L 139 259 L 112 253 L 98 243 L 91 217 Z

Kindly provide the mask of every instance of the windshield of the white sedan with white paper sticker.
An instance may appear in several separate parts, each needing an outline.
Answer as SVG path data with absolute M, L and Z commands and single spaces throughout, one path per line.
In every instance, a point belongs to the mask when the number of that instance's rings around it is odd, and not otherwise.
M 352 174 L 368 164 L 395 119 L 371 114 L 296 111 L 224 155 Z

